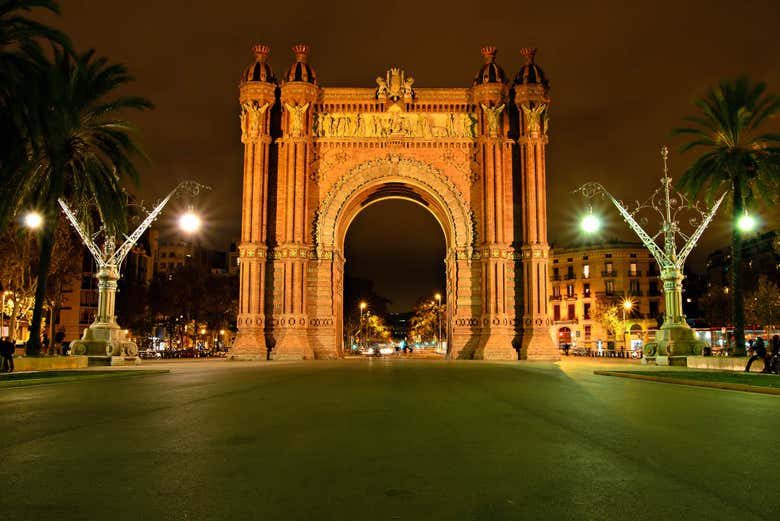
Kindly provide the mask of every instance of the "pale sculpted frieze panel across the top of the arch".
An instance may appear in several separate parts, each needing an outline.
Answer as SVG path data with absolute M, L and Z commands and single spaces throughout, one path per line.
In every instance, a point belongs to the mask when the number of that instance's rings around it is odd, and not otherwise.
M 473 113 L 321 112 L 314 115 L 314 136 L 475 138 L 477 116 Z

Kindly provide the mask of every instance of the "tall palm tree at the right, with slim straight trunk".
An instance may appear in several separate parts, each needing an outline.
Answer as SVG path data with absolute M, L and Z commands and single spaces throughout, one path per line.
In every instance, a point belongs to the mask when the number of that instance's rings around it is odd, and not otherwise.
M 703 149 L 678 181 L 691 197 L 704 192 L 711 200 L 726 189 L 731 192 L 731 291 L 735 351 L 745 352 L 745 304 L 742 294 L 743 232 L 737 223 L 757 196 L 771 197 L 780 186 L 780 134 L 762 133 L 761 126 L 780 112 L 780 98 L 767 94 L 764 83 L 751 84 L 746 77 L 723 81 L 694 100 L 694 126 L 675 134 L 690 136 L 680 152 Z

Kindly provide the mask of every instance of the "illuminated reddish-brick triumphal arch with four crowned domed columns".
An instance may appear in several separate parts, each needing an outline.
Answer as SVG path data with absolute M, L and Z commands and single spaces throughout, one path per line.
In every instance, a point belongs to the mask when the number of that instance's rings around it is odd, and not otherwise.
M 240 83 L 244 190 L 233 356 L 342 353 L 344 239 L 367 204 L 427 208 L 446 240 L 450 356 L 555 359 L 547 315 L 548 83 L 522 49 L 513 82 L 493 47 L 470 87 L 391 68 L 323 87 L 309 48 L 278 78 L 270 48 Z

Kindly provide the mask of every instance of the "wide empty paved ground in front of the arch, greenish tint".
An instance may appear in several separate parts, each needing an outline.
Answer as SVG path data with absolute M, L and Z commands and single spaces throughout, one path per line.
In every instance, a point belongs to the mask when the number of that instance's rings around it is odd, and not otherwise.
M 143 367 L 172 371 L 0 390 L 1 519 L 778 516 L 778 396 L 572 362 Z

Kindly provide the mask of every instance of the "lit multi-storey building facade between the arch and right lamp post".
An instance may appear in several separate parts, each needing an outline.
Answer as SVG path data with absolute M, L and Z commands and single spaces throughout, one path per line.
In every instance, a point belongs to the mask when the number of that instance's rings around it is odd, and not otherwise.
M 628 349 L 658 327 L 663 287 L 658 263 L 641 243 L 554 248 L 550 257 L 550 334 L 559 347 Z M 611 306 L 618 317 L 612 332 L 601 318 Z

